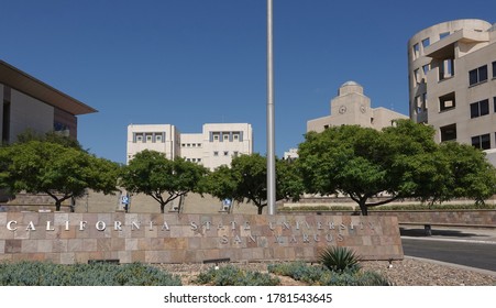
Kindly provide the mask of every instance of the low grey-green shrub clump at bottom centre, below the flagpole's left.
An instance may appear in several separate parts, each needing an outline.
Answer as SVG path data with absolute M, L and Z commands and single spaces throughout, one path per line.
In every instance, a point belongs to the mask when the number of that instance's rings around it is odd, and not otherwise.
M 208 271 L 201 272 L 195 283 L 214 286 L 277 286 L 280 280 L 269 274 L 225 265 L 218 268 L 210 267 Z

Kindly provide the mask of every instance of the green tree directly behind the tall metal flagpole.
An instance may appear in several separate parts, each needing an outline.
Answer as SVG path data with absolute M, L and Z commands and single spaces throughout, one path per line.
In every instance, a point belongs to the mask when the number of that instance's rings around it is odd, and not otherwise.
M 291 169 L 288 162 L 276 160 L 276 200 L 299 196 L 302 191 L 302 184 Z M 231 167 L 220 166 L 210 174 L 206 187 L 210 195 L 221 200 L 247 200 L 262 215 L 267 206 L 267 160 L 257 153 L 236 156 L 231 161 Z

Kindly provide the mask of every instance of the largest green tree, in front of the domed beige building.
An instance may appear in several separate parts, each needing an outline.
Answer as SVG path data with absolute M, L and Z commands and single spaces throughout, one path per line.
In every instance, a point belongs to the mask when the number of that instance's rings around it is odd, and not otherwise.
M 414 197 L 427 199 L 448 168 L 434 160 L 432 128 L 398 120 L 383 131 L 357 125 L 309 132 L 297 161 L 307 193 L 343 194 L 366 216 L 368 208 Z M 432 156 L 434 155 L 434 156 Z M 378 194 L 385 198 L 371 201 Z

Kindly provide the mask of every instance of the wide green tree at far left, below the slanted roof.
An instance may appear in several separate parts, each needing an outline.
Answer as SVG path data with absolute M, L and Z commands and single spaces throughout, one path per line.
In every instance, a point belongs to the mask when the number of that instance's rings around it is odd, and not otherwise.
M 57 211 L 62 202 L 82 196 L 86 188 L 104 194 L 117 190 L 117 163 L 58 143 L 15 143 L 0 148 L 0 160 L 8 163 L 2 179 L 12 193 L 47 194 Z

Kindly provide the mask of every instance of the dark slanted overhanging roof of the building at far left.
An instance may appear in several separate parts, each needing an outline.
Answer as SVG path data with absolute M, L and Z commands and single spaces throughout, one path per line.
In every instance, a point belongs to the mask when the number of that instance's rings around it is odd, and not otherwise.
M 55 89 L 0 59 L 0 84 L 24 92 L 74 116 L 98 112 L 86 103 Z

